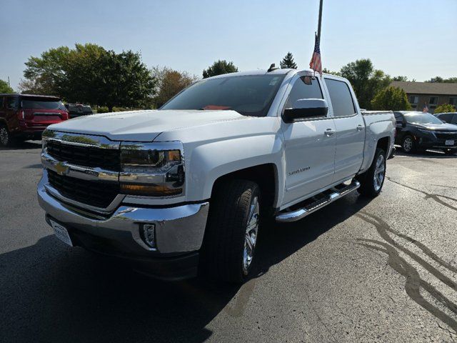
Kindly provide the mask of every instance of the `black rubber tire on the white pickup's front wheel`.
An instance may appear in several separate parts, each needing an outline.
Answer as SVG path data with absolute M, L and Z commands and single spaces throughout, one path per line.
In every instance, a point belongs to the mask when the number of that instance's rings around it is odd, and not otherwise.
M 231 283 L 244 282 L 248 277 L 253 259 L 245 270 L 243 257 L 248 217 L 255 199 L 260 213 L 260 189 L 255 182 L 235 179 L 216 187 L 201 249 L 200 268 L 207 277 Z M 257 214 L 257 223 L 258 217 Z M 258 242 L 258 231 L 255 237 Z

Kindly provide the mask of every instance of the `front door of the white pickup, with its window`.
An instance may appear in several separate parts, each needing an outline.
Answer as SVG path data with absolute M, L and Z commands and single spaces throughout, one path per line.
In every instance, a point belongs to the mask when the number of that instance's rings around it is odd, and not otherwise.
M 321 79 L 300 73 L 291 81 L 283 109 L 294 107 L 299 99 L 323 99 Z M 331 184 L 334 172 L 336 136 L 330 114 L 282 121 L 286 155 L 286 192 L 283 205 L 296 203 Z

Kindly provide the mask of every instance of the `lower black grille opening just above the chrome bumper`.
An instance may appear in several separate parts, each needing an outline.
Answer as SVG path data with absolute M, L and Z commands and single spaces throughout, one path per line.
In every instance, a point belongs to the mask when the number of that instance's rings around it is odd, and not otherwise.
M 119 184 L 66 177 L 48 170 L 49 184 L 64 197 L 105 209 L 120 193 Z

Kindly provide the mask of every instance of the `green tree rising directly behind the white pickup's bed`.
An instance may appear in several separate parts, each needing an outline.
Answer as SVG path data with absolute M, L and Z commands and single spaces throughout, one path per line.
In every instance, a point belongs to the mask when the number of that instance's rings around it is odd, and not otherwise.
M 382 70 L 374 69 L 370 59 L 358 59 L 341 68 L 341 76 L 351 82 L 358 103 L 363 109 L 371 109 L 371 100 L 381 89 L 391 83 Z

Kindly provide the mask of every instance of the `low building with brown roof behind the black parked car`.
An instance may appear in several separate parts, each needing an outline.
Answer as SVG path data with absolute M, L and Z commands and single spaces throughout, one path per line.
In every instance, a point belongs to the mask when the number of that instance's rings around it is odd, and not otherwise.
M 442 104 L 452 104 L 457 108 L 457 84 L 393 81 L 391 86 L 403 89 L 411 107 L 417 111 L 422 111 L 424 105 L 430 113 Z

